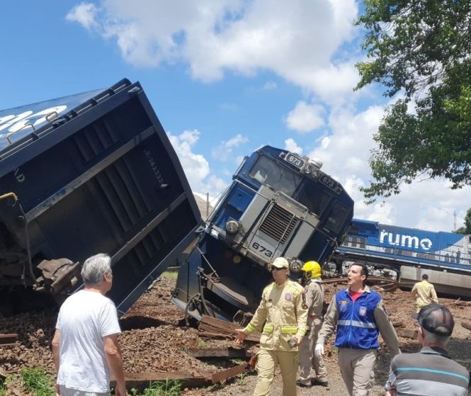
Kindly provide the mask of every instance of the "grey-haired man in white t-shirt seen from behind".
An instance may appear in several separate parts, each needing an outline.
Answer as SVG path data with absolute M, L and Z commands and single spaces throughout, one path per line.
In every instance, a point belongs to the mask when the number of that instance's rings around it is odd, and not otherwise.
M 109 395 L 110 373 L 116 379 L 115 396 L 126 395 L 118 315 L 105 297 L 113 281 L 110 264 L 106 254 L 86 259 L 81 270 L 84 289 L 60 307 L 52 339 L 57 395 Z

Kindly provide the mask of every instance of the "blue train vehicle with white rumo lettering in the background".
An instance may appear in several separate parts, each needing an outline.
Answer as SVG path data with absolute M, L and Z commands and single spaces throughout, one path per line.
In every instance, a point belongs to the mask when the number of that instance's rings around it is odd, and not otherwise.
M 429 275 L 438 293 L 471 297 L 471 235 L 353 219 L 333 261 L 362 260 L 402 285 Z

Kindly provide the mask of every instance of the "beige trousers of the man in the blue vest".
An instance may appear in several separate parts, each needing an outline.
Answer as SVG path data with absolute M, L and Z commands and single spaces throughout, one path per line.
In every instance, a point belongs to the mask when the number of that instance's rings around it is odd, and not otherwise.
M 377 349 L 339 348 L 339 366 L 350 396 L 368 396 L 373 387 Z

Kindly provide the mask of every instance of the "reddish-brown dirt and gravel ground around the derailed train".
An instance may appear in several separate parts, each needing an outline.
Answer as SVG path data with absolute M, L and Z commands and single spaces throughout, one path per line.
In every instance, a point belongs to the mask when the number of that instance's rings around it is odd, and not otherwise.
M 228 358 L 197 359 L 188 356 L 186 350 L 191 346 L 214 345 L 230 346 L 232 341 L 210 341 L 203 339 L 197 329 L 179 326 L 183 312 L 171 304 L 170 296 L 175 281 L 172 278 L 160 278 L 152 290 L 141 296 L 129 312 L 122 317 L 123 334 L 120 344 L 123 347 L 125 371 L 128 373 L 180 372 L 189 374 L 213 373 L 222 368 L 235 366 L 241 361 Z M 326 300 L 329 301 L 336 289 L 327 286 Z M 399 329 L 414 330 L 414 300 L 409 292 L 396 290 L 394 293 L 382 292 L 385 306 L 395 324 L 402 324 Z M 448 345 L 450 355 L 471 370 L 471 332 L 460 325 L 462 320 L 471 318 L 471 302 L 453 299 L 440 299 L 453 312 L 455 331 Z M 54 375 L 54 365 L 50 351 L 50 341 L 55 327 L 57 312 L 30 312 L 8 319 L 0 319 L 0 333 L 16 333 L 19 341 L 14 346 L 0 346 L 0 370 L 11 375 L 15 380 L 8 385 L 8 394 L 24 395 L 18 383 L 22 368 L 41 367 Z M 331 340 L 333 341 L 333 340 Z M 399 337 L 403 352 L 419 350 L 414 339 Z M 298 388 L 298 395 L 344 396 L 346 388 L 341 379 L 336 363 L 335 349 L 327 347 L 327 369 L 329 387 Z M 382 386 L 387 378 L 390 356 L 387 348 L 381 347 L 375 366 L 375 387 L 371 396 L 384 395 Z M 251 395 L 256 383 L 256 374 L 247 373 L 222 385 L 186 389 L 182 395 Z M 271 396 L 281 396 L 280 375 L 273 383 Z

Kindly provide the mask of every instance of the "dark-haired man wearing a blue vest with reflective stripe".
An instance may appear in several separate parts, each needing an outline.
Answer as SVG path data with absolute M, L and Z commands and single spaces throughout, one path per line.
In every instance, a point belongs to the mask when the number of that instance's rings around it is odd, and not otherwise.
M 348 287 L 334 295 L 319 332 L 314 353 L 322 356 L 324 342 L 336 330 L 339 366 L 350 396 L 368 396 L 373 387 L 378 334 L 390 349 L 391 357 L 399 353 L 399 340 L 387 318 L 379 293 L 365 281 L 368 267 L 355 263 L 348 270 Z

